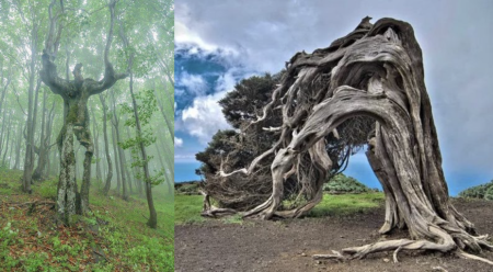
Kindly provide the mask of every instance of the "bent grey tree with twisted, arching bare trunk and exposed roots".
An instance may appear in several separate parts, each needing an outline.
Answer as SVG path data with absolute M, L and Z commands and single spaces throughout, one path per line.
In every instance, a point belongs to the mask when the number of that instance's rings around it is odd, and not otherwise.
M 473 224 L 450 203 L 442 169 L 432 105 L 424 83 L 423 59 L 412 26 L 393 19 L 372 25 L 370 18 L 348 35 L 312 54 L 298 53 L 287 63 L 287 72 L 264 107 L 263 122 L 280 107 L 283 124 L 273 147 L 256 157 L 249 168 L 230 173 L 251 174 L 274 155 L 271 162 L 271 196 L 243 216 L 297 217 L 322 199 L 322 184 L 333 162 L 325 138 L 356 116 L 371 117 L 368 161 L 386 193 L 386 220 L 381 234 L 406 226 L 410 239 L 379 241 L 347 248 L 349 258 L 395 250 L 454 251 L 461 257 L 493 262 L 466 253 L 493 247 L 486 236 L 475 236 Z M 291 175 L 310 188 L 309 201 L 279 211 L 284 182 Z M 342 254 L 317 258 L 346 258 Z

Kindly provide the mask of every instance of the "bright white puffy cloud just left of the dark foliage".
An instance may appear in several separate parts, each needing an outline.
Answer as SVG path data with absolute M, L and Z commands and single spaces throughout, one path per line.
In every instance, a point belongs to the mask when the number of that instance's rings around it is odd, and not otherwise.
M 192 106 L 184 109 L 182 112 L 181 129 L 205 145 L 218 129 L 231 128 L 218 104 L 218 101 L 225 94 L 226 91 L 195 98 Z

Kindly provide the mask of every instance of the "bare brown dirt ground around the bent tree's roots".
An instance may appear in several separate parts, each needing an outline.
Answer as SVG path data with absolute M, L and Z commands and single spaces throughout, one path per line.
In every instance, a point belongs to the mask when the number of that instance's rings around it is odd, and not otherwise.
M 475 224 L 479 234 L 493 235 L 493 202 L 454 203 Z M 175 271 L 493 271 L 493 267 L 479 261 L 425 251 L 401 251 L 399 263 L 393 263 L 391 252 L 346 262 L 311 258 L 379 239 L 406 237 L 405 230 L 378 235 L 383 214 L 383 207 L 379 207 L 345 217 L 175 226 Z M 491 251 L 481 256 L 493 260 Z

